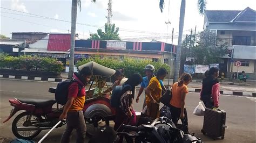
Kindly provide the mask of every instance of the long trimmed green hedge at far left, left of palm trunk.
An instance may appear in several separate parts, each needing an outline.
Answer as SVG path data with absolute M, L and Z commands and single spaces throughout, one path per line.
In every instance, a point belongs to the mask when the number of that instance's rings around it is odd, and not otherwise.
M 44 70 L 60 72 L 63 70 L 63 63 L 54 59 L 39 56 L 22 55 L 19 57 L 0 54 L 0 68 Z

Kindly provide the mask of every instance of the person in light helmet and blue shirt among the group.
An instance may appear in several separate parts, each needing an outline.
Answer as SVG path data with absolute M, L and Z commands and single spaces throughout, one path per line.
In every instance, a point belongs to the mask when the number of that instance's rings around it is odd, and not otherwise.
M 146 65 L 144 70 L 145 70 L 146 76 L 143 77 L 143 82 L 140 84 L 140 89 L 139 89 L 139 92 L 138 92 L 138 95 L 136 98 L 136 103 L 139 102 L 140 95 L 142 95 L 143 90 L 147 87 L 147 85 L 149 85 L 151 78 L 154 77 L 154 66 L 153 65 Z M 166 90 L 164 87 L 163 81 L 159 80 L 159 82 L 160 82 L 163 90 Z M 145 106 L 146 106 L 146 96 L 144 97 L 143 109 L 145 108 Z

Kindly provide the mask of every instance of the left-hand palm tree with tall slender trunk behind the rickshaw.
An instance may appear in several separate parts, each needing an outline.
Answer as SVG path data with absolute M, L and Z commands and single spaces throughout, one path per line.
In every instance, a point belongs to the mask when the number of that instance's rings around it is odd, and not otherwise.
M 96 0 L 92 0 L 92 2 L 96 2 Z M 72 0 L 69 78 L 73 77 L 73 72 L 74 72 L 74 55 L 75 55 L 76 24 L 77 24 L 77 6 L 79 6 L 79 9 L 81 11 L 81 0 Z

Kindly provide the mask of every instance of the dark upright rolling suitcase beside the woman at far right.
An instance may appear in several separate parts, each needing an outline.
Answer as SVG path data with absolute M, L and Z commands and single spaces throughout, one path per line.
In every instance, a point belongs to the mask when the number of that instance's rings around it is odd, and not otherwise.
M 204 125 L 201 132 L 209 137 L 224 139 L 226 123 L 226 112 L 224 110 L 205 109 Z

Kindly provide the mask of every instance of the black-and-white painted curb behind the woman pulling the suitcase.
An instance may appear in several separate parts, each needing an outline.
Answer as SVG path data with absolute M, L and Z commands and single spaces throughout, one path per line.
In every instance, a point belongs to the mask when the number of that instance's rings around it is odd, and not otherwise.
M 200 93 L 201 89 L 198 88 L 188 88 L 190 92 Z M 235 95 L 235 96 L 252 96 L 256 97 L 256 93 L 253 92 L 240 92 L 240 91 L 228 91 L 228 90 L 220 90 L 221 95 Z

